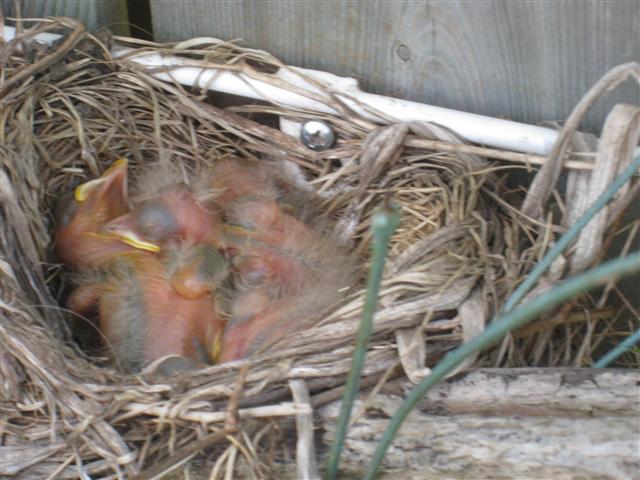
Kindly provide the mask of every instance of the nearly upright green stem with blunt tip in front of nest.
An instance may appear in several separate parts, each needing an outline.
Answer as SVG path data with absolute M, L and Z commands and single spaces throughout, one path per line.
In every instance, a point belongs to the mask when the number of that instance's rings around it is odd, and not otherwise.
M 336 425 L 336 436 L 329 451 L 327 462 L 327 478 L 334 480 L 338 473 L 340 454 L 344 445 L 344 438 L 347 433 L 353 401 L 360 386 L 360 374 L 364 365 L 364 358 L 367 353 L 367 344 L 373 328 L 373 314 L 376 310 L 384 262 L 389 248 L 391 236 L 398 226 L 400 211 L 397 206 L 384 205 L 377 210 L 371 219 L 371 229 L 373 231 L 373 258 L 371 270 L 367 279 L 367 294 L 362 310 L 362 319 L 356 338 L 356 348 L 353 352 L 353 362 L 347 377 L 342 404 L 340 405 L 340 415 Z

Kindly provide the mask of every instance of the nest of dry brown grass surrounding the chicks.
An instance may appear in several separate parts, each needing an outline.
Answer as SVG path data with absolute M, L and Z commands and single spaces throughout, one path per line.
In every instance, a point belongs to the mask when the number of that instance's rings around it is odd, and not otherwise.
M 52 46 L 29 41 L 56 28 L 65 36 Z M 200 67 L 242 72 L 287 88 L 273 75 L 286 67 L 265 52 L 214 39 L 177 45 L 117 40 L 135 48 L 114 59 L 108 37 L 89 35 L 69 19 L 49 19 L 2 45 L 4 475 L 151 476 L 154 468 L 170 468 L 210 447 L 207 451 L 218 452 L 208 457 L 216 472 L 240 453 L 254 474 L 267 476 L 267 464 L 284 455 L 274 446 L 280 427 L 273 419 L 308 413 L 310 406 L 340 395 L 364 299 L 369 220 L 382 199 L 393 198 L 402 207 L 402 219 L 386 267 L 365 385 L 399 374 L 419 379 L 427 365 L 482 330 L 558 233 L 601 191 L 593 193 L 595 175 L 577 171 L 570 175 L 567 193 L 555 192 L 554 201 L 548 201 L 571 141 L 574 151 L 589 150 L 587 141 L 577 141 L 573 133 L 597 92 L 569 119 L 525 197 L 499 176 L 503 164 L 456 148 L 463 142 L 450 131 L 426 122 L 376 124 L 320 84 L 322 93 L 315 95 L 341 115 L 275 104 L 222 109 L 206 103 L 203 91 L 160 81 L 152 75 L 158 72 L 130 61 L 145 52 L 171 53 Z M 604 91 L 637 75 L 637 65 L 627 65 L 598 88 Z M 254 121 L 257 114 L 321 118 L 338 142 L 327 151 L 308 150 Z M 609 120 L 595 167 L 605 186 L 637 144 L 638 109 L 616 107 Z M 452 148 L 437 151 L 420 146 L 423 140 Z M 66 281 L 51 253 L 55 199 L 119 157 L 130 161 L 135 190 L 136 178 L 157 162 L 179 165 L 184 178 L 193 178 L 229 155 L 275 159 L 317 197 L 357 259 L 351 290 L 339 304 L 318 311 L 308 328 L 244 361 L 170 379 L 124 376 L 96 365 L 70 341 L 65 325 L 71 316 L 60 307 Z M 613 159 L 598 163 L 607 155 Z M 598 261 L 607 232 L 637 189 L 638 182 L 617 197 L 600 223 L 556 262 L 538 291 Z M 574 201 L 578 197 L 582 203 Z M 589 299 L 580 302 L 595 308 Z M 608 320 L 617 318 L 618 311 L 605 304 L 599 308 L 608 312 Z M 511 337 L 491 361 L 518 357 L 528 362 L 541 355 L 536 349 L 553 350 L 549 337 L 542 347 L 540 342 L 554 326 L 531 333 L 522 348 L 519 337 Z M 416 338 L 420 341 L 412 341 Z M 589 362 L 590 347 L 567 338 L 571 358 L 581 348 L 581 362 Z M 310 403 L 299 395 L 290 400 L 293 380 L 304 381 Z

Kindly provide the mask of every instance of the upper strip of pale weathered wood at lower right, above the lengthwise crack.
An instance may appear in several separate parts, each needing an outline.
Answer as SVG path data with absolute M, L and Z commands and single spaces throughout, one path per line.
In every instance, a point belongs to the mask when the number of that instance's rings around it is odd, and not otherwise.
M 406 381 L 401 383 L 403 393 L 408 393 L 412 385 Z M 438 415 L 638 418 L 640 372 L 593 368 L 481 368 L 437 385 L 418 408 Z

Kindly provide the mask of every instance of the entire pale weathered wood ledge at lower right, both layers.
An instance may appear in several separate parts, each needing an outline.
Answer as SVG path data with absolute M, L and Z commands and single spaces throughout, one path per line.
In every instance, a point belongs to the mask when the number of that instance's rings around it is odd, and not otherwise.
M 409 387 L 403 382 L 393 382 L 399 392 Z M 456 376 L 409 415 L 381 478 L 635 478 L 639 384 L 632 370 L 480 369 Z M 360 398 L 355 411 L 366 395 Z M 402 400 L 380 394 L 367 404 L 348 432 L 347 476 L 366 470 Z M 339 407 L 318 411 L 325 444 Z

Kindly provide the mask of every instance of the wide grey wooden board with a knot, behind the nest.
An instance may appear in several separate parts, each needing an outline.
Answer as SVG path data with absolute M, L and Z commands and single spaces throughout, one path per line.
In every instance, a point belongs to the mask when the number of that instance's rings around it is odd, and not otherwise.
M 640 59 L 637 1 L 151 0 L 156 40 L 194 36 L 358 78 L 363 89 L 538 123 L 568 116 L 607 69 Z M 598 128 L 636 85 L 596 106 Z

